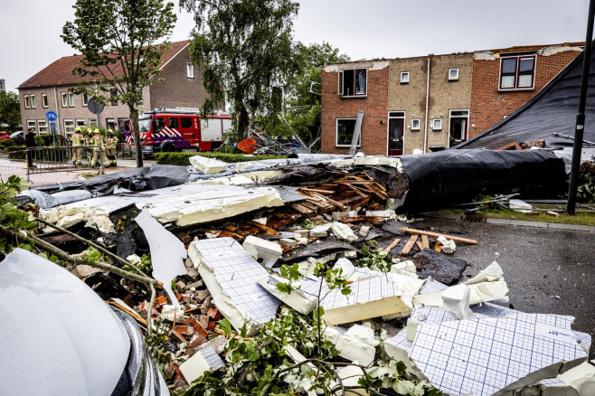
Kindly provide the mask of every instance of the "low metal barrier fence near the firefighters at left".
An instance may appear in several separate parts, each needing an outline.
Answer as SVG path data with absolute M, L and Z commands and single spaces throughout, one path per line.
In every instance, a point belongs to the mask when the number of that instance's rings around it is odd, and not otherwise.
M 52 146 L 30 147 L 26 150 L 11 151 L 10 159 L 24 159 L 27 161 L 27 178 L 29 174 L 45 174 L 52 172 L 68 172 L 88 170 L 100 167 L 103 171 L 103 162 L 97 156 L 93 164 L 93 149 L 98 146 Z M 105 150 L 103 151 L 105 157 Z

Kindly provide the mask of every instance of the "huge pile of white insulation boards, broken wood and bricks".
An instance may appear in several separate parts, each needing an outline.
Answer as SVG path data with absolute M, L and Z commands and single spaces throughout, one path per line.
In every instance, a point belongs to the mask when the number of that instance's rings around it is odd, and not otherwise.
M 419 161 L 410 165 L 419 170 Z M 233 348 L 271 336 L 271 321 L 289 321 L 295 311 L 314 317 L 302 327 L 333 345 L 345 366 L 326 391 L 360 394 L 342 384 L 343 378 L 360 386 L 355 378 L 406 394 L 399 386 L 407 378 L 413 381 L 407 394 L 423 394 L 430 385 L 453 395 L 524 394 L 542 386 L 590 394 L 584 391 L 595 382 L 585 365 L 590 336 L 571 330 L 571 316 L 496 305 L 508 301 L 498 264 L 461 281 L 467 262 L 453 257 L 458 244 L 477 240 L 406 226 L 395 209 L 420 196 L 411 188 L 425 179 L 411 178 L 399 159 L 333 158 L 231 175 L 228 165 L 192 162 L 220 177 L 112 191 L 40 211 L 47 224 L 95 230 L 108 249 L 136 253 L 128 257 L 131 265 L 144 266 L 139 256 L 150 253 L 146 272 L 162 285 L 156 296 L 129 278 L 76 271 L 111 305 L 152 329 L 149 346 L 163 358 L 172 389 L 235 370 L 241 356 Z M 118 182 L 109 183 L 116 190 Z M 42 239 L 60 240 L 61 232 Z M 315 346 L 299 343 L 269 354 L 303 363 L 322 378 L 322 366 L 311 362 L 320 360 Z M 401 385 L 373 382 L 394 364 L 384 353 L 407 366 L 394 377 Z M 314 391 L 304 381 L 307 370 L 288 369 L 279 379 L 292 391 Z M 238 382 L 253 380 L 241 375 Z

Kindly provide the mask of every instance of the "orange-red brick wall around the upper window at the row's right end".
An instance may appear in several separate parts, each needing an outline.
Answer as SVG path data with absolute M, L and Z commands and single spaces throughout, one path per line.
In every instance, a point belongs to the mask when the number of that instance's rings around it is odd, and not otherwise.
M 513 47 L 507 50 L 476 52 L 473 61 L 471 88 L 471 127 L 469 134 L 476 137 L 489 127 L 513 113 L 542 90 L 560 71 L 581 53 L 581 43 L 555 47 Z M 529 50 L 527 52 L 527 50 Z M 545 51 L 543 51 L 545 50 Z M 500 59 L 502 54 L 537 53 L 535 82 L 532 90 L 498 90 Z

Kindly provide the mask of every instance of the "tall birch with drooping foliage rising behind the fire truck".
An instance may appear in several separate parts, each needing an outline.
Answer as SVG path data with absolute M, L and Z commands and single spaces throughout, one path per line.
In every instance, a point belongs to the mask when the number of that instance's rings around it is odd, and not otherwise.
M 194 12 L 192 60 L 203 66 L 203 86 L 210 94 L 202 116 L 226 101 L 243 134 L 256 115 L 280 111 L 282 90 L 299 62 L 292 45 L 291 0 L 181 0 Z

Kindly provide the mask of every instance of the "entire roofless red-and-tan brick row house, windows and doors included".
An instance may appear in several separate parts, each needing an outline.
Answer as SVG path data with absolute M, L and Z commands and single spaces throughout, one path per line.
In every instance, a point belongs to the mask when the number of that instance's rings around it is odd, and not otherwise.
M 327 65 L 322 151 L 348 153 L 359 110 L 364 118 L 358 149 L 365 154 L 400 156 L 454 146 L 531 99 L 581 52 L 579 44 Z

